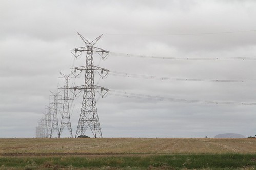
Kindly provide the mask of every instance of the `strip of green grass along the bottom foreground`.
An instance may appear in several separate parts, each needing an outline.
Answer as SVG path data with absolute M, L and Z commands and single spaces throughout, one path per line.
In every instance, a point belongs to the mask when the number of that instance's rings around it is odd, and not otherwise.
M 132 156 L 33 156 L 0 157 L 0 167 L 172 167 L 173 169 L 231 168 L 256 166 L 256 154 L 132 155 Z

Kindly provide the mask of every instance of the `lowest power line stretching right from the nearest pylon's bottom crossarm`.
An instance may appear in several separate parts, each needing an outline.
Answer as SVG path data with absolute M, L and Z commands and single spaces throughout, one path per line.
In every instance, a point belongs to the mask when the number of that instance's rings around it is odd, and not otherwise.
M 136 94 L 129 92 L 122 92 L 116 90 L 109 90 L 108 95 L 120 96 L 124 98 L 135 98 L 135 99 L 146 99 L 146 100 L 157 100 L 157 101 L 171 101 L 171 102 L 182 102 L 182 103 L 201 103 L 201 104 L 224 104 L 224 105 L 256 105 L 252 102 L 223 102 L 223 101 L 206 101 L 206 100 L 190 100 L 190 99 L 178 99 L 178 98 L 167 98 L 163 96 Z M 111 93 L 113 92 L 113 93 Z

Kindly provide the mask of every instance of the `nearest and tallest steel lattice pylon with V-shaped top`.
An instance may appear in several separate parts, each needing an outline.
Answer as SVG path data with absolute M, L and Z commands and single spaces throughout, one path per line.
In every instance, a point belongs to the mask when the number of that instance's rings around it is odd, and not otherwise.
M 78 125 L 76 129 L 75 137 L 79 134 L 84 135 L 85 131 L 89 127 L 97 138 L 97 134 L 102 138 L 101 126 L 99 117 L 97 114 L 96 100 L 95 100 L 95 89 L 108 90 L 106 88 L 94 85 L 94 65 L 93 65 L 93 52 L 101 52 L 102 54 L 109 53 L 109 51 L 103 50 L 101 48 L 94 47 L 95 43 L 102 37 L 99 36 L 93 41 L 89 42 L 81 34 L 78 35 L 82 38 L 85 43 L 85 47 L 75 48 L 72 51 L 76 52 L 86 52 L 86 65 L 85 67 L 85 84 L 83 86 L 77 86 L 75 89 L 84 90 L 82 108 L 80 117 L 78 120 Z

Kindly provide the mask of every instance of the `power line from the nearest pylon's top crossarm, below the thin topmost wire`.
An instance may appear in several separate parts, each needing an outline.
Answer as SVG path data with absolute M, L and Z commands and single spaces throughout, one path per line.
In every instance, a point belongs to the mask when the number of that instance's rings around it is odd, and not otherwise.
M 127 54 L 127 53 L 116 53 L 110 52 L 112 56 L 119 57 L 135 57 L 135 58 L 151 58 L 151 59 L 170 59 L 170 60 L 233 60 L 233 61 L 244 61 L 244 60 L 256 60 L 256 56 L 248 57 L 160 57 L 160 56 L 147 56 L 138 54 Z

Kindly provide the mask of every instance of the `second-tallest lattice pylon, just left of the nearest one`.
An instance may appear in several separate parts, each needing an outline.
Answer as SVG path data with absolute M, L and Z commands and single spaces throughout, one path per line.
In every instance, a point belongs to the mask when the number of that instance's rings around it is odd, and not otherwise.
M 63 100 L 63 109 L 62 109 L 62 120 L 61 120 L 61 127 L 60 127 L 60 136 L 62 134 L 62 131 L 65 127 L 65 125 L 67 126 L 69 133 L 71 135 L 71 137 L 73 138 L 73 134 L 72 134 L 72 127 L 71 127 L 71 122 L 70 122 L 70 114 L 69 114 L 69 100 L 72 100 L 71 98 L 69 98 L 68 96 L 68 90 L 69 90 L 69 86 L 68 86 L 68 79 L 73 79 L 73 77 L 71 77 L 69 75 L 64 75 L 60 72 L 60 74 L 63 77 L 59 77 L 59 78 L 64 78 L 64 87 L 60 87 L 59 89 L 64 89 L 64 97 L 61 98 Z

